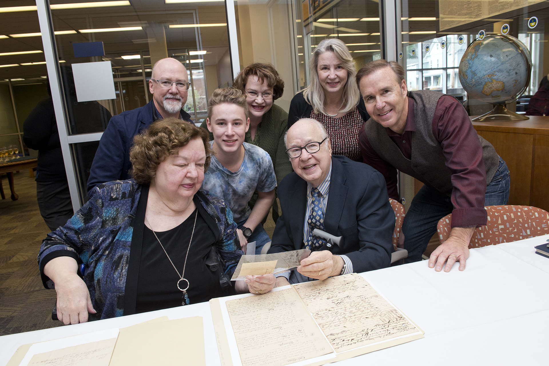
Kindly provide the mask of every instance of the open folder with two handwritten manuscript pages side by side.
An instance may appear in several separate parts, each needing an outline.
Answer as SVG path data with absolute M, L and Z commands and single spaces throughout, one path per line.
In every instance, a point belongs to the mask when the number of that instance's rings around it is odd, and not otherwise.
M 423 337 L 356 273 L 210 307 L 224 365 L 321 365 Z

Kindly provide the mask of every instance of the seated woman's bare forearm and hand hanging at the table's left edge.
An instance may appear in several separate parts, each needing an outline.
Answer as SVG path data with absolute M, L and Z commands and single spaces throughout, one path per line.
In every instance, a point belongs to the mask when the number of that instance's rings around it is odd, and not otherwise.
M 57 257 L 46 263 L 44 274 L 55 284 L 57 318 L 63 324 L 88 321 L 95 314 L 86 283 L 76 274 L 78 263 L 71 257 Z

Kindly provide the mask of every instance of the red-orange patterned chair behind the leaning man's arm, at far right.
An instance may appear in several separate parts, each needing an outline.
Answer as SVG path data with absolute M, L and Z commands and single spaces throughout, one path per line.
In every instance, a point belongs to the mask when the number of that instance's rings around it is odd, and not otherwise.
M 469 249 L 549 234 L 549 212 L 532 206 L 486 206 L 486 226 L 475 229 Z M 437 227 L 440 244 L 450 237 L 452 215 L 440 219 Z

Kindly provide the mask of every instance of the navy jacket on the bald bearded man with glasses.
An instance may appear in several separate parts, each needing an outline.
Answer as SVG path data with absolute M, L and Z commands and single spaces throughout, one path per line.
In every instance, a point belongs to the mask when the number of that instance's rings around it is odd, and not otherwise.
M 184 120 L 191 121 L 191 116 L 184 110 L 181 110 L 181 116 Z M 128 171 L 132 167 L 130 148 L 133 145 L 133 137 L 142 133 L 155 120 L 153 100 L 110 119 L 99 140 L 99 147 L 89 170 L 88 192 L 105 182 L 131 178 Z

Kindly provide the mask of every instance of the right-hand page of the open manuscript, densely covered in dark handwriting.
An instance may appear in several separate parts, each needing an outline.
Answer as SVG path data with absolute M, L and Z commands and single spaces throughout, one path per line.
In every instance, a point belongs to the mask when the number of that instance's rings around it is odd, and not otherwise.
M 359 274 L 294 287 L 335 352 L 418 331 Z

